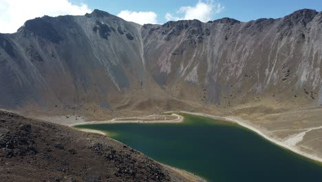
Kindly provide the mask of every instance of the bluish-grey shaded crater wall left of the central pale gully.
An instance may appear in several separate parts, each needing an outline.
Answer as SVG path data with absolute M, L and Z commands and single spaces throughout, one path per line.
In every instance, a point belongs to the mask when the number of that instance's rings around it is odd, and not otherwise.
M 1 106 L 109 108 L 114 94 L 146 77 L 139 31 L 138 24 L 95 10 L 33 19 L 15 34 L 1 34 Z

